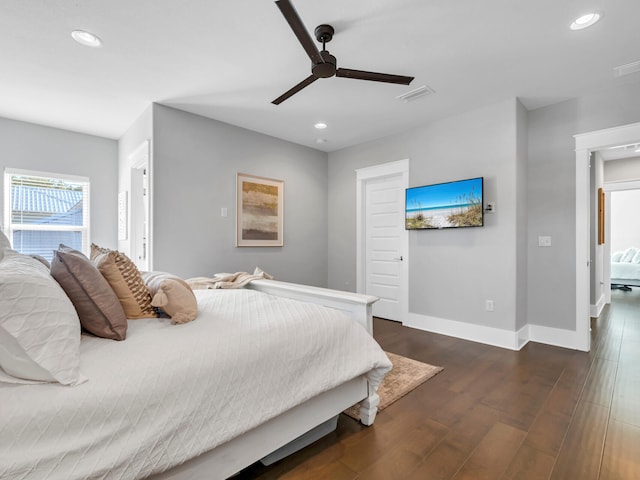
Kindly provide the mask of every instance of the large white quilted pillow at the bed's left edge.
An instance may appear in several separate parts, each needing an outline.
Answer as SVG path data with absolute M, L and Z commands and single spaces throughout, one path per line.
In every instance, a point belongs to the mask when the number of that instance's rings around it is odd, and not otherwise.
M 0 368 L 2 381 L 80 379 L 80 320 L 47 268 L 6 250 L 0 260 Z

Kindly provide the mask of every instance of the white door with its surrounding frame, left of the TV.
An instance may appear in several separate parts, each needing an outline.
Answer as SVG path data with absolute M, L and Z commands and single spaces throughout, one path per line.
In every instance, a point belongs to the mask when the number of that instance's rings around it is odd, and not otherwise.
M 373 315 L 403 322 L 408 314 L 408 235 L 404 194 L 409 160 L 356 171 L 356 290 L 373 295 Z

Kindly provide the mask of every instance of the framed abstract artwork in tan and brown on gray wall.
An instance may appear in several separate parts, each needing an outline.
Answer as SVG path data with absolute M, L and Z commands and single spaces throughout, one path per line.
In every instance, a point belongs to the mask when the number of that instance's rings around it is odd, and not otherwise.
M 284 245 L 284 181 L 236 174 L 236 246 Z

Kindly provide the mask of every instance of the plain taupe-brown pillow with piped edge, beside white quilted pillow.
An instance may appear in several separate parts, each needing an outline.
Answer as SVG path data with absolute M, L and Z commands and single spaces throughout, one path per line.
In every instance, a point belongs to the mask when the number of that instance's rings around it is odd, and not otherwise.
M 53 252 L 51 276 L 73 303 L 85 330 L 98 337 L 125 339 L 127 317 L 118 297 L 87 257 L 60 245 Z

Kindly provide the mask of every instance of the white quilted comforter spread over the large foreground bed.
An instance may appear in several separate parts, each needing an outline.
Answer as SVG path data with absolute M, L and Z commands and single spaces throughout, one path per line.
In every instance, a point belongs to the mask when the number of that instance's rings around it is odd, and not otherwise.
M 252 290 L 196 291 L 199 316 L 83 336 L 76 386 L 0 383 L 0 478 L 133 479 L 183 463 L 391 364 L 337 310 Z

